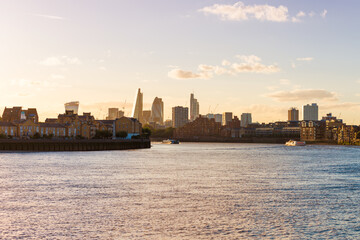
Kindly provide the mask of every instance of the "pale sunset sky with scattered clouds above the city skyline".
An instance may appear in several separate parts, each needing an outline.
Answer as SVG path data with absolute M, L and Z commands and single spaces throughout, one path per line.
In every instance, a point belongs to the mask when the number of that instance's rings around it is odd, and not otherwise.
M 80 111 L 131 114 L 155 97 L 200 114 L 251 112 L 287 120 L 318 103 L 360 124 L 360 2 L 356 0 L 4 0 L 0 2 L 0 111 L 40 118 Z

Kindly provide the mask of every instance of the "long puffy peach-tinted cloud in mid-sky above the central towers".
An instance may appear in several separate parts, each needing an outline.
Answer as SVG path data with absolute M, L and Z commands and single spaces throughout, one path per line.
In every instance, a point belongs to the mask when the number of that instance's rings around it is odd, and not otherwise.
M 261 58 L 255 55 L 237 55 L 236 58 L 241 61 L 231 63 L 230 61 L 223 60 L 221 63 L 222 66 L 200 64 L 198 66 L 198 73 L 175 68 L 168 72 L 168 76 L 175 79 L 210 79 L 213 78 L 214 75 L 236 75 L 237 73 L 268 74 L 280 71 L 280 68 L 276 65 L 262 64 Z

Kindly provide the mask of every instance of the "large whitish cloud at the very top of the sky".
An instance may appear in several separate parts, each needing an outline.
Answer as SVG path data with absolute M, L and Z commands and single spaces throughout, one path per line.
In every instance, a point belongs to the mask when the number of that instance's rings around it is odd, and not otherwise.
M 205 14 L 219 16 L 222 20 L 246 21 L 256 19 L 259 21 L 286 22 L 289 19 L 288 8 L 280 5 L 274 7 L 270 5 L 245 5 L 237 2 L 233 5 L 214 4 L 199 10 Z

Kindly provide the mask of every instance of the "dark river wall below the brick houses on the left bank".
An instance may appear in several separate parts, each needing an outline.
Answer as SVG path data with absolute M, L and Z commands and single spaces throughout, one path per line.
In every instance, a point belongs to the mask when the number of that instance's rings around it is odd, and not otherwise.
M 150 148 L 148 139 L 132 140 L 0 140 L 0 151 L 63 152 Z

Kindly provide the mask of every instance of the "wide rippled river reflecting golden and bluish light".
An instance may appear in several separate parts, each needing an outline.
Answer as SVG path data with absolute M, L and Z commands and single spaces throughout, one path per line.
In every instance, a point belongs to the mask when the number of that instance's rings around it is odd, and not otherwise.
M 360 239 L 360 148 L 0 153 L 0 239 Z

